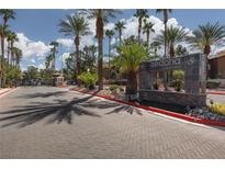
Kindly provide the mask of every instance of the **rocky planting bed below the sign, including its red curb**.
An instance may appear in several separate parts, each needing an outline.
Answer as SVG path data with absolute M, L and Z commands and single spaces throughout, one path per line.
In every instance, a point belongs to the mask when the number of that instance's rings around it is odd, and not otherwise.
M 175 116 L 191 122 L 225 126 L 224 104 L 212 104 L 209 108 L 199 109 L 199 108 L 189 108 L 189 106 L 182 106 L 177 104 L 165 104 L 165 103 L 162 104 L 162 103 L 146 102 L 146 101 L 130 102 L 126 100 L 125 87 L 123 86 L 104 86 L 104 89 L 101 91 L 99 91 L 97 88 L 90 90 L 85 87 L 75 87 L 71 90 L 79 91 L 82 93 L 94 94 L 120 103 L 137 106 L 144 110 L 157 112 L 169 116 Z

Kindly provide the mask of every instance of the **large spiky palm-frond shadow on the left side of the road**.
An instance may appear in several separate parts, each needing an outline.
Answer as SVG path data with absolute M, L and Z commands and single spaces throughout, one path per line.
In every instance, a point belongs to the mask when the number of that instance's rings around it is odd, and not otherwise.
M 2 112 L 0 114 L 10 114 L 1 117 L 0 122 L 4 123 L 1 127 L 18 125 L 25 127 L 27 125 L 40 122 L 49 117 L 47 124 L 66 122 L 72 123 L 72 119 L 81 115 L 89 115 L 93 117 L 101 117 L 101 115 L 88 111 L 80 103 L 90 100 L 92 95 L 82 99 L 75 98 L 71 101 L 54 100 L 49 102 L 32 102 L 30 105 L 16 106 L 16 110 Z

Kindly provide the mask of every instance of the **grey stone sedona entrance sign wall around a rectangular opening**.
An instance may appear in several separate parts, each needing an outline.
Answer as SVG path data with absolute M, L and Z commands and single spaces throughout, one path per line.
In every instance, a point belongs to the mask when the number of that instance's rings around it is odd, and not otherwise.
M 203 54 L 142 63 L 139 65 L 139 99 L 191 106 L 206 105 L 205 64 L 206 57 Z M 178 69 L 184 70 L 184 92 L 154 89 L 156 72 Z

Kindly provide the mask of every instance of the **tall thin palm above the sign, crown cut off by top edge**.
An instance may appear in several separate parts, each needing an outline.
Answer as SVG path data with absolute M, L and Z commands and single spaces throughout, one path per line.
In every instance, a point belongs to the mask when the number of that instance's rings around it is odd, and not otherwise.
M 171 9 L 157 9 L 156 10 L 157 13 L 162 13 L 164 14 L 164 26 L 165 26 L 165 57 L 167 57 L 167 41 L 166 41 L 166 36 L 167 36 L 167 22 L 168 22 L 168 18 L 169 14 L 172 12 Z

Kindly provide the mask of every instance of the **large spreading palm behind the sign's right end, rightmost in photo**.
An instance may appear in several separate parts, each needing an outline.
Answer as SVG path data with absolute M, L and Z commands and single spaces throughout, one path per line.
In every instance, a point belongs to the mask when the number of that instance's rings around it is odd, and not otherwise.
M 193 36 L 189 37 L 189 42 L 192 47 L 196 47 L 205 54 L 207 77 L 207 59 L 211 53 L 211 46 L 220 43 L 225 37 L 225 26 L 220 25 L 218 22 L 209 22 L 205 25 L 199 25 L 199 29 L 192 33 Z

